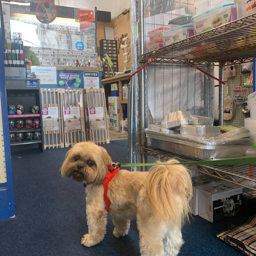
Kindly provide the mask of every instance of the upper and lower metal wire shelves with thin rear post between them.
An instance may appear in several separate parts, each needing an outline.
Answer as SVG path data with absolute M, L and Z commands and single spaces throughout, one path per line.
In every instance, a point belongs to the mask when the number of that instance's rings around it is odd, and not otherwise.
M 155 62 L 170 64 L 206 64 L 218 62 L 220 79 L 224 65 L 252 62 L 256 56 L 256 13 L 208 30 L 184 40 L 141 55 L 141 61 L 154 58 Z M 222 69 L 222 71 L 221 71 Z M 220 86 L 220 113 L 223 108 L 223 86 Z M 220 115 L 219 118 L 223 116 Z M 223 125 L 220 122 L 220 125 Z M 141 146 L 141 153 L 161 160 L 176 158 L 182 162 L 199 161 L 152 146 Z M 256 162 L 256 161 L 255 161 Z M 227 180 L 256 190 L 256 165 L 254 166 L 189 166 L 191 170 Z

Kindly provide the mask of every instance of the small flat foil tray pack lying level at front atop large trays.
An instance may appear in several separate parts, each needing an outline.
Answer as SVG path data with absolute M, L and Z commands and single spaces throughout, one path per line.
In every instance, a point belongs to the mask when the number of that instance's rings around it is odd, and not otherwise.
M 219 126 L 184 124 L 180 126 L 180 134 L 206 135 L 215 137 L 220 134 Z

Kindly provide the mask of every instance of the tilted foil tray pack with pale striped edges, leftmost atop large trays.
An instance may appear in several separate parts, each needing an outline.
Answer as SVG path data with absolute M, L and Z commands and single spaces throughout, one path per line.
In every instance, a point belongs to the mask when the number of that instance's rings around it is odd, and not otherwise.
M 168 113 L 162 121 L 162 128 L 170 129 L 182 124 L 190 124 L 192 116 L 188 111 L 178 110 Z

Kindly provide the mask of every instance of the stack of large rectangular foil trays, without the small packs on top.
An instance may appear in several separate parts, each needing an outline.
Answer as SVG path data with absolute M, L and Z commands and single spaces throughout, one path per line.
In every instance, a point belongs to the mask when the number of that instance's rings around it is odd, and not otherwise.
M 235 131 L 232 132 L 235 133 Z M 146 129 L 145 132 L 146 136 L 151 140 L 151 145 L 155 148 L 200 159 L 243 156 L 253 144 L 252 138 L 246 136 L 246 132 L 241 130 L 240 132 L 243 135 L 240 135 L 237 131 L 232 136 L 232 132 L 228 132 L 228 136 L 220 134 L 209 139 L 190 134 L 166 134 L 149 129 Z M 239 138 L 241 136 L 246 137 Z

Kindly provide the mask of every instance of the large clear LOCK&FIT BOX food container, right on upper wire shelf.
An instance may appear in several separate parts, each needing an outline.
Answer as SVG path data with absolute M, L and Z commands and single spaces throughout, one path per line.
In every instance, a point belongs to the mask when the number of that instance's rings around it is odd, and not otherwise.
M 233 2 L 228 2 L 196 14 L 192 17 L 195 34 L 217 28 L 218 26 L 236 20 L 236 17 L 236 6 Z

